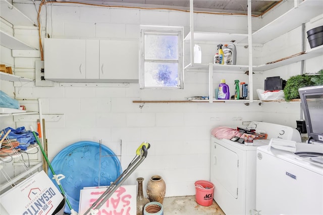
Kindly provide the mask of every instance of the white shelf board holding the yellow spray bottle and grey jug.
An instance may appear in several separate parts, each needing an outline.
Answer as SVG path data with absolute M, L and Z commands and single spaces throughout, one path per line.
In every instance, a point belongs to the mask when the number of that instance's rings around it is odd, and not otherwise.
M 199 71 L 205 70 L 208 72 L 208 64 L 191 64 L 187 65 L 184 69 L 187 71 Z M 249 70 L 249 66 L 247 65 L 220 65 L 220 64 L 213 64 L 213 72 L 217 70 L 224 70 L 224 71 L 247 71 Z

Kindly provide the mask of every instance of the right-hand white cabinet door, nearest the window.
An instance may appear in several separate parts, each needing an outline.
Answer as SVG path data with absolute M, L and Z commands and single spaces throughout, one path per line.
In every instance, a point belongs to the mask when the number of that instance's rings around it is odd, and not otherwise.
M 138 41 L 100 40 L 99 59 L 100 79 L 138 80 Z

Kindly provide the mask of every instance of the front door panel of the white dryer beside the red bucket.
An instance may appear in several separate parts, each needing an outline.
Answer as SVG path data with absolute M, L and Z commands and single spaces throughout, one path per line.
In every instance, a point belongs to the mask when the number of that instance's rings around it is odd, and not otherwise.
M 238 198 L 238 155 L 218 143 L 213 142 L 212 145 L 210 172 L 211 179 L 218 183 L 215 184 L 216 190 L 217 186 L 221 186 L 234 198 Z

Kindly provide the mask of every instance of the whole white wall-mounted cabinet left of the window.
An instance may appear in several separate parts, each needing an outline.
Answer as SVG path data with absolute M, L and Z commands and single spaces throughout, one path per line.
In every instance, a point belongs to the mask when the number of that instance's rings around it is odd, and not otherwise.
M 45 39 L 45 79 L 58 82 L 138 82 L 139 42 Z

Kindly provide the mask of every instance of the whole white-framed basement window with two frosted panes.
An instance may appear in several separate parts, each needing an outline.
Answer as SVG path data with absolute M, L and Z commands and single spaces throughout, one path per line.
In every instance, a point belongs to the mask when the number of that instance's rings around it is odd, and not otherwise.
M 140 27 L 140 88 L 183 89 L 183 28 Z

